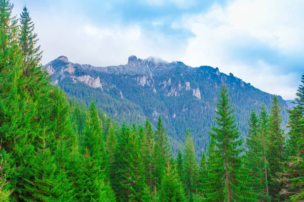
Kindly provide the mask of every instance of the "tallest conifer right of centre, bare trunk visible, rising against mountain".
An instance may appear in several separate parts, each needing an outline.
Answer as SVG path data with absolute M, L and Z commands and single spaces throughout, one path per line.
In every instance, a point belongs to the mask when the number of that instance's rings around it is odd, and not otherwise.
M 242 139 L 236 125 L 234 110 L 230 104 L 227 88 L 223 85 L 219 99 L 216 104 L 215 123 L 218 127 L 212 126 L 213 132 L 209 146 L 209 172 L 210 186 L 207 197 L 210 201 L 237 200 L 239 197 L 237 189 L 240 182 L 237 181 L 237 174 L 241 166 L 241 145 Z M 215 184 L 213 184 L 213 182 Z

